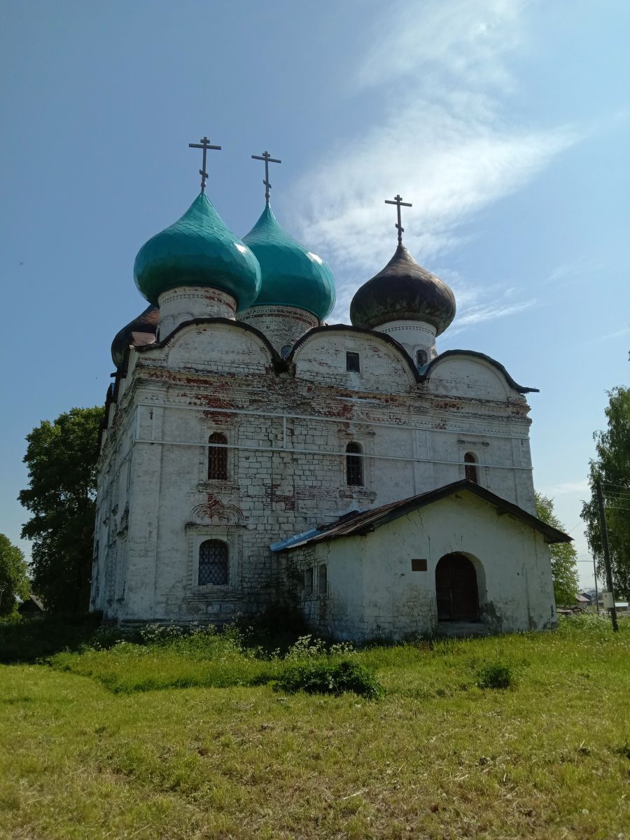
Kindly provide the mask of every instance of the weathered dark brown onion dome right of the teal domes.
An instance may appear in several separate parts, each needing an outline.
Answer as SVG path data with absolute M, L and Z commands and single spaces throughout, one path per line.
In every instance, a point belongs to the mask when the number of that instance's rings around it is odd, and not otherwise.
M 418 265 L 404 245 L 398 245 L 385 268 L 364 283 L 350 303 L 350 321 L 364 329 L 390 321 L 423 321 L 439 335 L 454 317 L 449 286 Z

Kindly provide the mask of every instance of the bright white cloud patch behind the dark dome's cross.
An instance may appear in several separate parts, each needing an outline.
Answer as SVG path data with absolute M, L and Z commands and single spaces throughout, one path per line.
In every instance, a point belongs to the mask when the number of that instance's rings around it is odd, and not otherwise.
M 302 211 L 310 241 L 325 244 L 344 267 L 378 270 L 396 244 L 395 208 L 384 198 L 399 188 L 413 204 L 402 210 L 405 244 L 426 260 L 458 244 L 458 228 L 472 213 L 522 186 L 568 143 L 564 132 L 510 134 L 473 124 L 474 103 L 461 104 L 456 113 L 409 103 L 353 150 L 308 173 L 297 192 L 310 194 Z

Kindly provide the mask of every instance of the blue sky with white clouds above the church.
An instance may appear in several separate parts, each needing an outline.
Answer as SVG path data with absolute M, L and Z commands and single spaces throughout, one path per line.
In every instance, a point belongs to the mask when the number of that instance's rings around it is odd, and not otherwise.
M 630 4 L 625 0 L 3 0 L 0 532 L 28 518 L 24 437 L 104 401 L 144 309 L 134 258 L 207 192 L 244 235 L 264 206 L 354 291 L 405 244 L 458 314 L 438 350 L 506 366 L 532 407 L 534 485 L 575 538 L 630 384 Z

